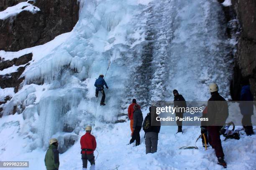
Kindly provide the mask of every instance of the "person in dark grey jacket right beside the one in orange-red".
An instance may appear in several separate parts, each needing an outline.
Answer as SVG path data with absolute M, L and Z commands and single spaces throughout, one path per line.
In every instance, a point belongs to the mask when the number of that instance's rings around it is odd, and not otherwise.
M 141 143 L 140 131 L 143 123 L 143 115 L 138 104 L 133 106 L 133 110 L 133 135 L 130 144 L 136 140 L 136 146 L 138 146 Z

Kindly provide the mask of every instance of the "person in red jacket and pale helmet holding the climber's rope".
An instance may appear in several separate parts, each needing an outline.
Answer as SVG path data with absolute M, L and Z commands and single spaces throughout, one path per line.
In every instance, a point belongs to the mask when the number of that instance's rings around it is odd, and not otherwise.
M 87 126 L 85 131 L 85 135 L 80 139 L 83 170 L 87 170 L 87 160 L 89 160 L 91 164 L 90 170 L 95 170 L 95 157 L 93 151 L 95 151 L 97 143 L 95 137 L 91 135 L 92 127 Z

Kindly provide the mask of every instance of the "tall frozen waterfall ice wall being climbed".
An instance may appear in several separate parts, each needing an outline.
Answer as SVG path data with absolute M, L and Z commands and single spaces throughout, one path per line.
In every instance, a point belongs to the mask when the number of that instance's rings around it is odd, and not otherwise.
M 97 124 L 115 122 L 132 98 L 143 110 L 153 100 L 172 100 L 174 88 L 186 100 L 206 100 L 211 82 L 229 96 L 228 56 L 233 47 L 225 35 L 220 4 L 141 3 L 81 0 L 79 21 L 69 37 L 26 68 L 23 88 L 6 106 L 19 103 L 31 148 L 46 148 L 51 137 L 72 144 L 95 117 L 95 130 Z M 94 82 L 100 73 L 107 73 L 110 87 L 104 107 L 95 98 Z

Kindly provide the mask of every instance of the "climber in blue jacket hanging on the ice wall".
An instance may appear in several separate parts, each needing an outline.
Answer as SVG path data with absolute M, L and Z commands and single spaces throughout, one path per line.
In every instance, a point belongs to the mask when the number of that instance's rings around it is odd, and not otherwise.
M 106 86 L 106 88 L 108 89 L 108 85 L 104 80 L 104 75 L 100 74 L 99 78 L 95 81 L 94 86 L 96 87 L 96 92 L 95 92 L 95 96 L 98 97 L 99 91 L 102 92 L 102 98 L 100 101 L 100 105 L 106 105 L 105 102 L 105 92 L 104 92 L 104 85 Z

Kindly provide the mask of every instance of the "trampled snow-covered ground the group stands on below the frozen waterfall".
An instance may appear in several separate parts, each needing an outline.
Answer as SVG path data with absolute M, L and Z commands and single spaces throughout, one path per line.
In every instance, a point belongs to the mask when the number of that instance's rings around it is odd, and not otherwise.
M 144 112 L 144 116 L 146 112 Z M 10 121 L 11 122 L 8 122 Z M 1 121 L 0 135 L 5 136 L 1 141 L 0 160 L 23 160 L 29 161 L 31 170 L 44 170 L 45 150 L 36 148 L 30 152 L 24 152 L 30 140 L 20 136 L 18 126 L 25 123 L 22 115 L 12 115 L 4 118 L 5 125 Z M 200 135 L 200 127 L 184 127 L 183 134 L 175 134 L 177 127 L 162 126 L 159 133 L 158 152 L 146 155 L 144 143 L 144 132 L 141 131 L 141 145 L 135 147 L 135 143 L 126 145 L 130 140 L 129 122 L 118 124 L 102 124 L 96 122 L 96 129 L 93 132 L 97 140 L 98 155 L 96 162 L 97 170 L 222 170 L 217 165 L 217 158 L 214 150 L 209 147 L 202 148 L 201 138 L 196 145 L 198 150 L 179 150 L 183 146 L 195 146 L 195 141 Z M 254 127 L 255 128 L 255 127 Z M 79 137 L 83 135 L 80 132 Z M 242 132 L 243 133 L 243 132 Z M 221 138 L 224 140 L 224 138 Z M 17 142 L 18 141 L 18 142 Z M 222 142 L 225 160 L 228 164 L 227 170 L 254 170 L 256 158 L 256 135 L 241 135 L 240 140 L 228 139 Z M 13 147 L 15 146 L 15 147 Z M 17 149 L 18 148 L 18 149 Z M 80 170 L 82 160 L 80 154 L 79 140 L 67 150 L 60 154 L 60 170 Z M 90 167 L 90 165 L 88 165 Z M 5 168 L 3 168 L 5 169 Z M 7 169 L 7 168 L 6 168 Z M 8 168 L 11 170 L 12 168 Z M 15 170 L 17 168 L 13 168 Z

